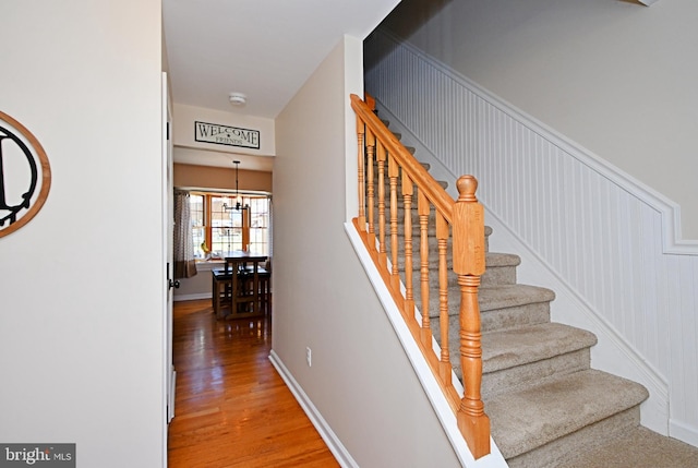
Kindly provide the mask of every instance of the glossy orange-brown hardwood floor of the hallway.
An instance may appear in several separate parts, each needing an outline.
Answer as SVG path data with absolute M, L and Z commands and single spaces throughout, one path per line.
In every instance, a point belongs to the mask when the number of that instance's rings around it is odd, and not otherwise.
M 268 360 L 267 319 L 216 321 L 174 303 L 170 468 L 339 467 Z

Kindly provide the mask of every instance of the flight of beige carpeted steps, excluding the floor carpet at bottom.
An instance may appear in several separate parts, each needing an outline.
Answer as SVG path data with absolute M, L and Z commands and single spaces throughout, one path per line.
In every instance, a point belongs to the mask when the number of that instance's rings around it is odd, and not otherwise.
M 387 124 L 387 123 L 386 123 Z M 401 135 L 396 134 L 399 139 Z M 390 184 L 385 165 L 385 220 L 387 257 L 390 259 Z M 377 170 L 374 170 L 377 179 Z M 447 187 L 447 183 L 442 187 Z M 377 195 L 377 183 L 373 184 Z M 402 284 L 405 251 L 405 197 L 401 180 L 393 216 L 397 235 Z M 377 197 L 376 197 L 377 199 Z M 377 200 L 374 199 L 377 205 Z M 413 190 L 409 213 L 412 228 L 412 285 L 414 302 L 421 307 L 420 225 L 418 192 Z M 441 341 L 438 317 L 438 250 L 435 239 L 435 214 L 430 211 L 429 231 L 429 313 L 431 328 Z M 377 206 L 375 207 L 377 220 Z M 485 227 L 485 249 L 489 235 Z M 458 379 L 459 287 L 452 268 L 452 240 L 447 247 L 448 264 L 448 341 L 452 364 Z M 647 391 L 637 384 L 590 370 L 590 347 L 595 337 L 583 331 L 550 324 L 550 301 L 554 293 L 544 288 L 516 284 L 516 255 L 489 254 L 481 277 L 480 319 L 483 346 L 481 392 L 490 415 L 492 436 L 512 468 L 557 468 L 563 461 L 603 444 L 639 424 L 639 404 Z M 525 304 L 521 304 L 526 302 Z M 532 326 L 537 325 L 537 326 Z M 522 329 L 521 329 L 522 328 Z M 502 333 L 496 333 L 502 332 Z M 489 408 L 489 411 L 488 411 Z M 587 425 L 585 425 L 587 424 Z M 581 429 L 579 429 L 581 428 Z

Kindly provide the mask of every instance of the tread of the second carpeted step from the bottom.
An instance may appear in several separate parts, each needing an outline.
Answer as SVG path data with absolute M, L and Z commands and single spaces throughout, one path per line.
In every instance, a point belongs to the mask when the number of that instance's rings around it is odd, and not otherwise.
M 593 333 L 559 323 L 490 332 L 482 335 L 482 372 L 550 359 L 597 344 Z

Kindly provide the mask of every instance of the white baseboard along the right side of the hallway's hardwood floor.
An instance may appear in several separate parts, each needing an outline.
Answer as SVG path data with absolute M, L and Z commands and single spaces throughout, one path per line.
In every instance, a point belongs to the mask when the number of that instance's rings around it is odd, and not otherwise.
M 342 468 L 359 468 L 357 461 L 351 457 L 347 448 L 342 445 L 341 441 L 334 433 L 327 421 L 320 413 L 315 405 L 310 400 L 303 388 L 298 384 L 293 375 L 289 372 L 289 370 L 284 365 L 281 359 L 278 355 L 272 350 L 269 353 L 269 361 L 276 368 L 286 385 L 289 387 L 298 403 L 300 404 L 303 411 L 313 423 L 317 432 L 320 432 L 320 436 L 323 437 L 323 441 L 327 444 L 327 447 L 333 453 L 337 461 Z

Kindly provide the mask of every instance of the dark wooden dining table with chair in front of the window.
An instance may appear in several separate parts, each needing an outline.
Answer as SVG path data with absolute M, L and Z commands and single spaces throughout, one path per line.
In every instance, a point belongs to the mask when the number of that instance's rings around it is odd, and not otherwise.
M 260 264 L 266 262 L 267 255 L 236 250 L 220 256 L 225 268 L 213 271 L 213 307 L 216 317 L 260 315 Z M 227 314 L 221 307 L 221 298 L 230 304 L 230 312 Z

